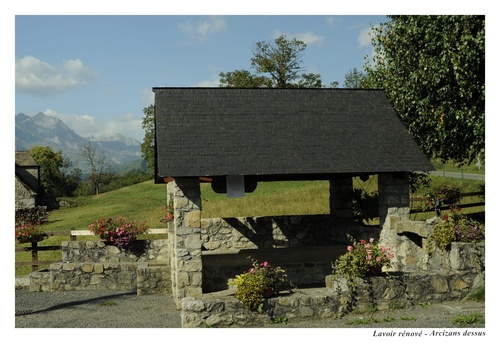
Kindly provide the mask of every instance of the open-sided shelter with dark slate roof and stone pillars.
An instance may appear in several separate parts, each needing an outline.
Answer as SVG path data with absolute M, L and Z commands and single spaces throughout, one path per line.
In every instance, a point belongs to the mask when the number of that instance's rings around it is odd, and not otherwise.
M 202 292 L 200 182 L 244 196 L 265 181 L 328 180 L 352 217 L 352 178 L 378 175 L 381 224 L 409 207 L 408 172 L 433 170 L 383 90 L 153 88 L 157 183 L 174 201 L 174 298 Z M 285 252 L 284 252 L 285 253 Z

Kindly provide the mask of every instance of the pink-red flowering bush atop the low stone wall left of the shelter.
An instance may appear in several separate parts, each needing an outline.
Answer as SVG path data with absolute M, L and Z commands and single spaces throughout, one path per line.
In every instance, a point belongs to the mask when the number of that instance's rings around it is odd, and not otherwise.
M 124 216 L 116 219 L 102 218 L 89 225 L 89 230 L 101 240 L 122 248 L 130 248 L 140 234 L 147 232 L 147 226 L 136 224 Z

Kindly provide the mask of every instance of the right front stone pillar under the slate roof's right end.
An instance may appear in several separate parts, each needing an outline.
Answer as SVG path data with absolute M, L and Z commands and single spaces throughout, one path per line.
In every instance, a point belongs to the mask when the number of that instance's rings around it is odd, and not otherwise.
M 383 227 L 389 208 L 410 207 L 410 181 L 408 173 L 381 173 L 378 175 L 380 227 Z

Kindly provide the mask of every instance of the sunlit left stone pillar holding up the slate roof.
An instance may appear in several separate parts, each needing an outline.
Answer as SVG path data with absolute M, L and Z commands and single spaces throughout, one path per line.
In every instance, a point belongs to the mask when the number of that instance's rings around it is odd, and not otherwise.
M 168 239 L 172 295 L 180 309 L 182 298 L 202 295 L 200 182 L 197 178 L 176 178 L 168 183 L 167 196 L 174 200 Z

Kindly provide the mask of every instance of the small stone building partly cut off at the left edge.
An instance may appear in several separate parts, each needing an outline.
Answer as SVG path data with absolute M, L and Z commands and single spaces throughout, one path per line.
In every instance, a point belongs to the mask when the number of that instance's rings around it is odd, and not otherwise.
M 40 166 L 27 151 L 16 151 L 16 210 L 37 206 Z

